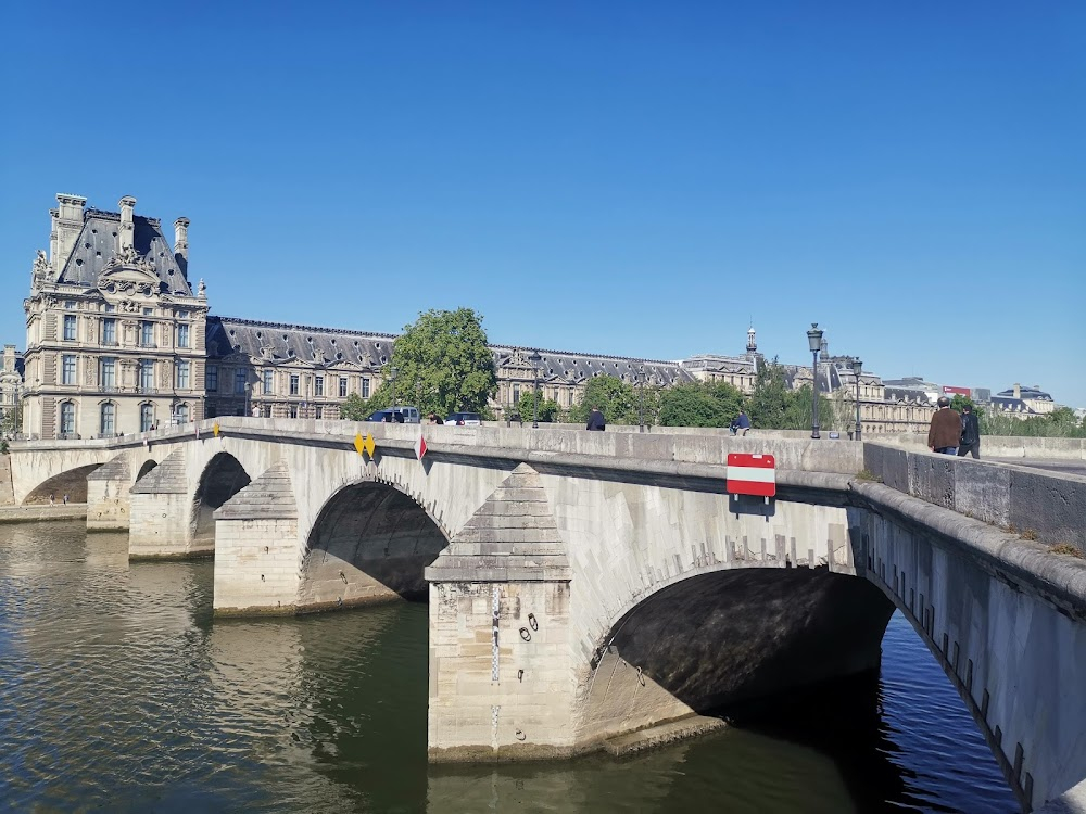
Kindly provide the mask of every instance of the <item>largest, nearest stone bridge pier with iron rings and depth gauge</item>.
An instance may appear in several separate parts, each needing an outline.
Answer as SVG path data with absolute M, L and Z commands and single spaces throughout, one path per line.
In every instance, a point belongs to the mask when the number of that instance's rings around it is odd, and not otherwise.
M 569 754 L 571 572 L 535 471 L 517 467 L 426 578 L 430 760 Z

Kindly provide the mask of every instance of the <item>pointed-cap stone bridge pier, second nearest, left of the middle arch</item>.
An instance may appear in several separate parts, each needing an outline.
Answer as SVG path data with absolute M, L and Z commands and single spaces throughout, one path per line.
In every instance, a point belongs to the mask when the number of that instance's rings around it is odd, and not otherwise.
M 215 510 L 215 613 L 293 613 L 299 570 L 298 507 L 280 461 Z

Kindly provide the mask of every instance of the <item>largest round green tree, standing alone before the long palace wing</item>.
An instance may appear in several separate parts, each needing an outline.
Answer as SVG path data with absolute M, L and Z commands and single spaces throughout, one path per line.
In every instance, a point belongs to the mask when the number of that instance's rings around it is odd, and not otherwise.
M 395 341 L 386 379 L 369 399 L 391 402 L 391 368 L 397 369 L 395 390 L 400 404 L 414 404 L 419 414 L 444 418 L 467 410 L 492 418 L 488 399 L 497 391 L 494 356 L 487 346 L 482 317 L 471 308 L 431 309 L 404 326 Z

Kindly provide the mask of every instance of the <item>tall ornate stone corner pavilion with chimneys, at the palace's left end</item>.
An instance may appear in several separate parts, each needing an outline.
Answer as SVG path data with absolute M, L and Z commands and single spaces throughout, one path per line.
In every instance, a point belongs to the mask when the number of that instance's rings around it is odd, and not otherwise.
M 155 218 L 58 195 L 26 311 L 23 430 L 101 437 L 203 417 L 207 300 L 188 280 L 188 220 L 171 250 Z

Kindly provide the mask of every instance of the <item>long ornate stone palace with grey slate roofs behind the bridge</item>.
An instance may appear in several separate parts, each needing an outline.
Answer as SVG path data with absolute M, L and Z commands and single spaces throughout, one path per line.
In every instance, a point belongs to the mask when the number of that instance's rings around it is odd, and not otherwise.
M 113 436 L 215 416 L 336 419 L 349 394 L 368 398 L 391 373 L 393 334 L 212 315 L 204 281 L 192 282 L 187 218 L 174 221 L 171 246 L 157 218 L 137 214 L 135 198 L 122 198 L 116 212 L 90 208 L 78 195 L 56 202 L 49 251 L 38 250 L 24 301 L 23 381 L 14 397 L 29 437 Z M 491 348 L 498 416 L 531 392 L 536 370 L 541 397 L 565 408 L 602 374 L 657 387 L 728 382 L 750 392 L 761 361 L 753 329 L 746 353 L 682 361 L 539 349 L 533 367 L 533 348 Z M 820 389 L 850 387 L 846 368 L 825 364 Z M 877 377 L 863 374 L 861 383 L 864 430 L 900 432 L 919 422 L 926 431 L 930 406 L 887 405 Z M 414 395 L 397 400 L 411 404 Z M 869 410 L 871 419 L 883 416 L 870 427 Z

